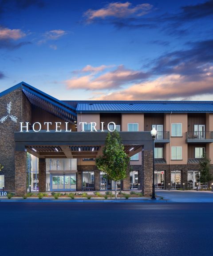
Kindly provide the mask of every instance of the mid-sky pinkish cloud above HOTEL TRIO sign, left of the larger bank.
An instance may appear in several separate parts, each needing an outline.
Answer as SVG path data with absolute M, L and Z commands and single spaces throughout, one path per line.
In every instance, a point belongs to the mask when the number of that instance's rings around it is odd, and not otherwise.
M 96 67 L 86 66 L 82 70 L 93 71 L 87 76 L 74 77 L 72 79 L 64 81 L 68 89 L 90 89 L 90 90 L 102 90 L 102 89 L 114 89 L 120 88 L 122 85 L 132 83 L 134 81 L 142 81 L 149 77 L 148 73 L 142 71 L 135 71 L 127 69 L 123 65 L 118 66 L 115 70 L 106 72 L 104 74 L 95 76 L 98 69 L 104 70 L 106 66 Z

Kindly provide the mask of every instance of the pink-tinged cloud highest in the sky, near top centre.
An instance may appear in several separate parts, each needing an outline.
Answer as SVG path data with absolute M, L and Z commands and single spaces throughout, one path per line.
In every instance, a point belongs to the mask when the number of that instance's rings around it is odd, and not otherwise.
M 84 13 L 84 16 L 87 18 L 87 22 L 95 19 L 106 19 L 107 17 L 123 18 L 131 15 L 142 16 L 150 12 L 151 8 L 151 4 L 138 4 L 133 7 L 129 2 L 115 2 L 107 4 L 104 8 L 98 10 L 89 9 Z

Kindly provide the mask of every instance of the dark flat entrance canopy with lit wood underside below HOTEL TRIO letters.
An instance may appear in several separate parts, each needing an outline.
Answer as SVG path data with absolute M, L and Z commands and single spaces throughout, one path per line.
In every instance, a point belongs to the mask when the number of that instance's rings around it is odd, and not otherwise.
M 128 156 L 153 147 L 150 132 L 119 134 Z M 15 132 L 16 151 L 27 151 L 38 158 L 95 158 L 103 153 L 106 135 L 107 132 Z

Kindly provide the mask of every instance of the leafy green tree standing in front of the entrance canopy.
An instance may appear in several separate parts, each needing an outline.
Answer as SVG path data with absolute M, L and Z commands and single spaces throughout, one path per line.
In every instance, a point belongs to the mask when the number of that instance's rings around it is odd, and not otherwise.
M 126 170 L 130 162 L 129 156 L 124 152 L 124 146 L 118 131 L 109 132 L 106 136 L 103 156 L 96 158 L 96 165 L 100 171 L 105 172 L 110 180 L 115 181 L 115 198 L 117 199 L 117 181 L 126 178 Z

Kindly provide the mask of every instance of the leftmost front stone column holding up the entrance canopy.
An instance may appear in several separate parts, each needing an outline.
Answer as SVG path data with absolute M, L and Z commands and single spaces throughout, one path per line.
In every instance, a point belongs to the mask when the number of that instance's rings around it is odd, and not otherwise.
M 23 196 L 27 192 L 27 152 L 15 152 L 15 193 Z

